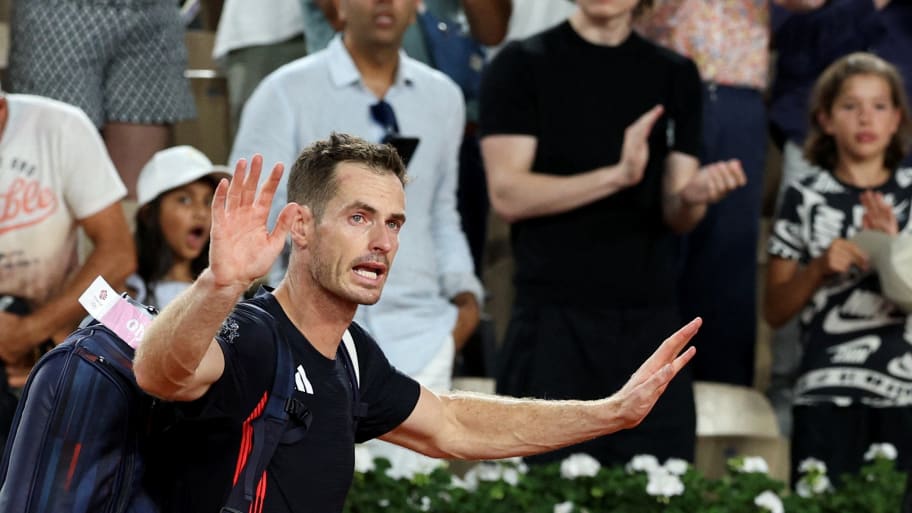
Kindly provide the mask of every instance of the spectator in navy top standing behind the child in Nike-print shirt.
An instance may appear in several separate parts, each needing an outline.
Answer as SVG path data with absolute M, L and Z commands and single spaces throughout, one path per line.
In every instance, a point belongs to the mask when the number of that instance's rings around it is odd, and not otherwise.
M 808 131 L 808 102 L 814 81 L 836 59 L 871 51 L 896 66 L 912 95 L 912 1 L 833 0 L 809 12 L 773 6 L 773 45 L 777 50 L 770 93 L 770 126 L 782 147 L 782 178 L 777 211 L 788 185 L 820 172 L 803 156 Z M 912 165 L 907 156 L 906 165 Z M 767 391 L 783 434 L 791 433 L 791 408 L 801 360 L 798 319 L 773 334 L 773 365 Z

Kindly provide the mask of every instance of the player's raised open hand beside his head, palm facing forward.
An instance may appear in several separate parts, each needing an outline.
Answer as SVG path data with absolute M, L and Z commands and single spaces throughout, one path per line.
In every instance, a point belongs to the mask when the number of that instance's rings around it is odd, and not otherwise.
M 209 245 L 209 268 L 219 286 L 236 286 L 245 290 L 264 276 L 282 251 L 291 227 L 292 211 L 282 210 L 270 233 L 266 228 L 269 208 L 282 178 L 281 163 L 257 194 L 257 183 L 263 169 L 263 157 L 240 159 L 234 178 L 222 179 L 212 198 L 212 232 Z

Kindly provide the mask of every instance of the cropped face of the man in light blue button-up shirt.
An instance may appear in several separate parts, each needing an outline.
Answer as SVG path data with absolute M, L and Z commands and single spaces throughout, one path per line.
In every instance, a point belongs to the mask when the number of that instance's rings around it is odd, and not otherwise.
M 369 46 L 402 45 L 402 36 L 415 21 L 418 0 L 340 0 L 339 17 L 345 33 Z

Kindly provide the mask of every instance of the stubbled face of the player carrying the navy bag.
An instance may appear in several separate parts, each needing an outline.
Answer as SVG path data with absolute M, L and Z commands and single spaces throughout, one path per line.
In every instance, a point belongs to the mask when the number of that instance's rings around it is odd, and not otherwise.
M 336 194 L 308 241 L 310 272 L 329 293 L 372 305 L 399 250 L 405 191 L 393 174 L 358 163 L 340 163 L 336 180 Z

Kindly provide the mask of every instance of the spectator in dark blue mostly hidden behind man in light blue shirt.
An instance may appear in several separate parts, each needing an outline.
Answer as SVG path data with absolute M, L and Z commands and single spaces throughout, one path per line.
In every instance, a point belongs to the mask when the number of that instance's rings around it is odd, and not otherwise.
M 300 0 L 308 49 L 322 49 L 342 30 L 332 0 Z M 487 236 L 488 192 L 478 147 L 478 87 L 485 50 L 507 33 L 512 0 L 423 0 L 417 20 L 402 39 L 405 53 L 456 81 L 466 103 L 466 124 L 459 149 L 457 205 L 475 269 L 481 273 Z

